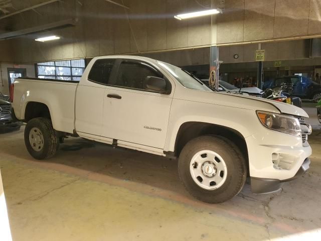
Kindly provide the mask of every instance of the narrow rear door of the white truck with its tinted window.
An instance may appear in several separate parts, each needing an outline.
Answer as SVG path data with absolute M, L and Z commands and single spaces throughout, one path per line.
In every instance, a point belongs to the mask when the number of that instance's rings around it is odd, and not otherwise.
M 76 90 L 76 131 L 102 136 L 103 104 L 106 84 L 111 76 L 115 59 L 97 59 L 88 66 L 87 79 L 81 79 Z M 85 74 L 83 75 L 83 77 Z

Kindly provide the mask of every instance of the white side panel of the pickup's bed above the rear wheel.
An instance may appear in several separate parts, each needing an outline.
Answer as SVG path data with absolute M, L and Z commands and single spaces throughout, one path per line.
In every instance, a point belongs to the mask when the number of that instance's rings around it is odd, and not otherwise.
M 17 118 L 25 119 L 25 110 L 29 103 L 43 103 L 50 111 L 54 129 L 73 133 L 75 93 L 78 83 L 79 81 L 17 78 L 14 82 L 13 102 Z

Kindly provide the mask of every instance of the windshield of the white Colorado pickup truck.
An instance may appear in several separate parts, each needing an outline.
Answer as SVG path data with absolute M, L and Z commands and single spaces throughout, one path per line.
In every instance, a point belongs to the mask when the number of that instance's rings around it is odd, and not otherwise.
M 201 80 L 198 80 L 196 77 L 192 77 L 191 74 L 181 68 L 161 61 L 158 61 L 158 64 L 166 68 L 184 87 L 189 89 L 212 91 L 209 87 L 203 84 Z

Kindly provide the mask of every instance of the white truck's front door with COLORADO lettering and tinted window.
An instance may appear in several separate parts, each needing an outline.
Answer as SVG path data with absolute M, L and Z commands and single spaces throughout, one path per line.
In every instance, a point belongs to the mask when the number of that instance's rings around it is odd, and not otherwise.
M 117 75 L 105 89 L 103 135 L 163 149 L 173 93 L 144 89 L 147 76 L 164 77 L 157 67 L 146 62 L 119 60 Z M 168 85 L 171 86 L 170 81 Z

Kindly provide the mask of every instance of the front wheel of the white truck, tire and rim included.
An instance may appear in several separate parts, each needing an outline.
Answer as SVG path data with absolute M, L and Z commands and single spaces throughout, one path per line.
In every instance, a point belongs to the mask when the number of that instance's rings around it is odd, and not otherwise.
M 240 192 L 247 168 L 234 144 L 219 136 L 203 136 L 183 148 L 179 175 L 191 195 L 204 202 L 220 203 Z

